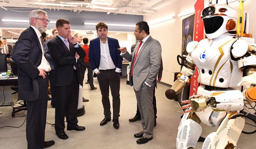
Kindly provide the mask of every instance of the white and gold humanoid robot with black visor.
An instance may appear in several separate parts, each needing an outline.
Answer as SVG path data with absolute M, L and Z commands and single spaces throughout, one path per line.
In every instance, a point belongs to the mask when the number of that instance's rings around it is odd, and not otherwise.
M 194 149 L 202 122 L 218 127 L 204 140 L 202 149 L 235 149 L 246 117 L 239 111 L 245 102 L 256 102 L 256 48 L 235 36 L 238 13 L 230 6 L 211 5 L 202 11 L 201 18 L 207 39 L 186 46 L 188 55 L 181 72 L 166 91 L 166 97 L 174 99 L 198 69 L 201 86 L 197 95 L 182 102 L 186 110 L 178 127 L 176 148 Z

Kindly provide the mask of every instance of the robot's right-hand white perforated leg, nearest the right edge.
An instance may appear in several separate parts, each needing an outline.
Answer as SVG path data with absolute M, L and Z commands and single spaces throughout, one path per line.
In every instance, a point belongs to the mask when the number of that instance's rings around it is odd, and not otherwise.
M 244 128 L 244 117 L 230 119 L 238 113 L 229 113 L 216 132 L 210 133 L 204 140 L 202 149 L 235 149 Z

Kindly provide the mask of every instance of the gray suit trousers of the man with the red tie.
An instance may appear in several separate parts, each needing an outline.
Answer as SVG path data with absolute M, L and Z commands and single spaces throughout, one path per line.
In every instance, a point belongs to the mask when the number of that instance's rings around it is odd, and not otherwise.
M 153 92 L 154 86 L 147 86 L 145 83 L 141 86 L 140 91 L 135 91 L 138 108 L 141 115 L 141 125 L 143 128 L 143 137 L 153 137 L 154 129 L 154 108 L 153 108 Z

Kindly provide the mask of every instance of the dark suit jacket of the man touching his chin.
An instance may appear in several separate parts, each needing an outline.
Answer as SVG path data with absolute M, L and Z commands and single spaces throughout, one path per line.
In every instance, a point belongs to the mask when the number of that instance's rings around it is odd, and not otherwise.
M 75 53 L 77 52 L 80 57 L 85 57 L 81 46 L 75 48 L 70 41 L 69 45 L 70 50 L 58 36 L 47 43 L 49 53 L 55 62 L 52 86 L 69 86 L 73 80 L 73 66 L 76 65 Z

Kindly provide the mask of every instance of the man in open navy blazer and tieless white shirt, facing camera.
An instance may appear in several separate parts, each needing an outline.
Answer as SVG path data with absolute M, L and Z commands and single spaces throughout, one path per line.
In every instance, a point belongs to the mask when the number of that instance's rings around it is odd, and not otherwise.
M 113 126 L 119 129 L 120 112 L 120 76 L 122 69 L 122 57 L 118 40 L 107 37 L 108 26 L 104 22 L 96 25 L 98 38 L 90 41 L 89 61 L 91 63 L 94 77 L 97 76 L 99 88 L 102 94 L 102 105 L 105 118 L 100 126 L 111 121 L 109 86 L 113 97 Z

